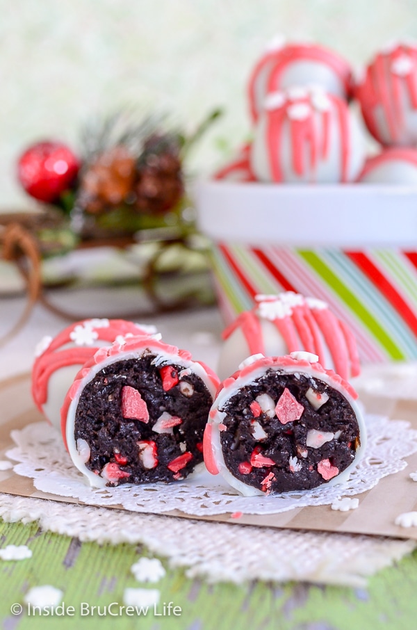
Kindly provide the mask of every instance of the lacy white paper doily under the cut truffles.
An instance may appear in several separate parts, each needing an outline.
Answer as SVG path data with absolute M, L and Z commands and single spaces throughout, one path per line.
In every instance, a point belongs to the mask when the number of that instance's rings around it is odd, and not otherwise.
M 331 487 L 269 496 L 241 496 L 222 483 L 220 476 L 211 476 L 204 466 L 179 483 L 153 485 L 120 485 L 91 488 L 74 467 L 63 449 L 58 432 L 46 422 L 29 424 L 11 433 L 17 446 L 6 454 L 19 462 L 17 474 L 33 478 L 38 490 L 58 496 L 71 496 L 90 506 L 117 506 L 131 512 L 163 514 L 181 510 L 188 515 L 206 516 L 224 512 L 274 514 L 293 508 L 322 506 L 340 496 L 360 494 L 377 485 L 379 479 L 407 466 L 405 457 L 417 451 L 417 430 L 402 420 L 366 416 L 368 444 L 366 453 L 350 480 Z

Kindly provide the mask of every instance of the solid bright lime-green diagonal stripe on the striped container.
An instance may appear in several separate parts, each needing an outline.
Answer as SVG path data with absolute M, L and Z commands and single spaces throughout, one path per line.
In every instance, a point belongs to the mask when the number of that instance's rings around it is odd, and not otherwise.
M 341 282 L 341 280 L 333 273 L 332 269 L 329 268 L 316 253 L 311 252 L 309 250 L 297 250 L 297 253 L 302 257 L 311 268 L 313 268 L 318 275 L 325 280 L 325 282 L 332 288 L 332 290 L 343 300 L 345 305 L 347 305 L 359 319 L 363 322 L 363 324 L 368 328 L 369 332 L 373 334 L 379 341 L 379 343 L 385 348 L 386 352 L 395 359 L 402 360 L 404 359 L 404 354 L 401 352 L 400 348 L 393 342 L 393 339 L 386 334 L 384 328 L 379 324 L 379 322 L 373 317 L 372 314 L 366 309 L 361 302 L 357 299 L 357 297 L 348 289 L 348 287 Z

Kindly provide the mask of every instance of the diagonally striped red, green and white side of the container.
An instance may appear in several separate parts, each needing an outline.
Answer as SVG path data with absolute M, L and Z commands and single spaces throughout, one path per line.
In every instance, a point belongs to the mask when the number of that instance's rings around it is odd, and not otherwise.
M 350 325 L 362 362 L 417 358 L 417 252 L 217 243 L 212 264 L 225 323 L 252 308 L 256 293 L 296 291 Z

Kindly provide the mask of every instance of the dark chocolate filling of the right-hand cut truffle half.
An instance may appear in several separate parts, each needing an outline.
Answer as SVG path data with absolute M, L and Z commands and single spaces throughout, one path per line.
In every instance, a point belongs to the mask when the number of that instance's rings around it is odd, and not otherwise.
M 260 410 L 256 398 L 261 394 L 272 398 L 272 408 L 280 399 L 284 408 L 289 407 L 281 421 L 275 412 L 271 418 Z M 309 401 L 312 394 L 316 406 L 328 399 L 316 410 Z M 317 403 L 314 396 L 323 394 Z M 294 409 L 300 417 L 290 421 Z M 267 494 L 326 483 L 352 463 L 360 444 L 356 415 L 343 394 L 302 374 L 270 369 L 239 389 L 220 411 L 226 414 L 220 440 L 227 468 L 243 483 Z

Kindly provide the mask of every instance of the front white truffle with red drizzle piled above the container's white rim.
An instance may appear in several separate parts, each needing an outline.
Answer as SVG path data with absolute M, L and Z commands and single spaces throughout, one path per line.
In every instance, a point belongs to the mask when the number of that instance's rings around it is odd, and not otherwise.
M 256 178 L 286 184 L 354 181 L 365 141 L 347 104 L 317 88 L 305 96 L 291 90 L 282 95 L 283 104 L 265 108 L 254 129 L 250 163 Z

